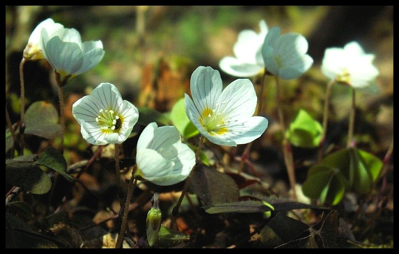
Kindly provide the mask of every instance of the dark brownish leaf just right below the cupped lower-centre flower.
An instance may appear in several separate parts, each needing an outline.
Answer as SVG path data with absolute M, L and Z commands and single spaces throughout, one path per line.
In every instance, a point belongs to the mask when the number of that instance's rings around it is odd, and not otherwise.
M 230 176 L 204 165 L 193 169 L 189 190 L 205 205 L 238 201 L 239 197 L 237 184 Z

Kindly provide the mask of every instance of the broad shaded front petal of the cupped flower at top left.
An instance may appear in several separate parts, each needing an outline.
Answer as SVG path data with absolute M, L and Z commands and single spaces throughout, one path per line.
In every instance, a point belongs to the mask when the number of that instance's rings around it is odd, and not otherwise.
M 46 44 L 46 58 L 57 72 L 74 74 L 83 64 L 83 54 L 75 42 L 63 42 L 59 36 Z

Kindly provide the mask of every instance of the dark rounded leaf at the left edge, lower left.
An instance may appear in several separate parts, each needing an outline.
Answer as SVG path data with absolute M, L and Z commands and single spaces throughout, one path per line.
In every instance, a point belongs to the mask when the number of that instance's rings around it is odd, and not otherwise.
M 6 165 L 6 180 L 13 186 L 33 194 L 45 194 L 51 189 L 51 180 L 33 163 L 11 163 Z

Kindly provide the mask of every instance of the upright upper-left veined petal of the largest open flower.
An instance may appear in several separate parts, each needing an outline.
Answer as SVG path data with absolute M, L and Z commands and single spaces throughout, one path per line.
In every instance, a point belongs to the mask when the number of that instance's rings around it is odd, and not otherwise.
M 219 72 L 209 66 L 199 66 L 191 75 L 190 84 L 191 95 L 198 110 L 202 113 L 214 108 L 223 88 Z

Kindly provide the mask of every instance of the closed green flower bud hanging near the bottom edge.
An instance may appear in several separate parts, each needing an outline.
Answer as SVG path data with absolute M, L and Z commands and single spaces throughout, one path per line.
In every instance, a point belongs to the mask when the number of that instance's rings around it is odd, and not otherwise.
M 154 193 L 152 201 L 153 204 L 150 211 L 148 211 L 146 220 L 147 241 L 150 246 L 154 245 L 158 239 L 162 219 L 162 213 L 159 209 L 158 193 Z

